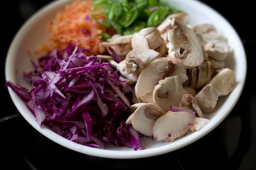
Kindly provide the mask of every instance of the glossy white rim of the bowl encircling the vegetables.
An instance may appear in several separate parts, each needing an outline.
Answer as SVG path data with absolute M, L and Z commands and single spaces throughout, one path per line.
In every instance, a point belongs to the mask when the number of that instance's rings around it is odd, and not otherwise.
M 68 139 L 65 139 L 62 136 L 59 136 L 58 134 L 54 133 L 52 130 L 50 130 L 48 127 L 43 126 L 40 128 L 35 122 L 34 119 L 31 117 L 28 117 L 24 111 L 29 111 L 24 105 L 20 107 L 20 102 L 23 102 L 17 95 L 8 88 L 9 94 L 12 98 L 12 101 L 14 102 L 16 108 L 22 116 L 26 119 L 27 122 L 29 122 L 30 125 L 32 125 L 36 130 L 38 130 L 41 134 L 46 136 L 47 138 L 51 139 L 53 142 L 56 142 L 64 147 L 67 147 L 71 150 L 75 150 L 79 153 L 84 153 L 90 156 L 98 156 L 103 158 L 112 158 L 112 159 L 136 159 L 136 158 L 145 158 L 150 156 L 157 156 L 164 153 L 169 153 L 171 151 L 180 149 L 182 147 L 185 147 L 198 139 L 201 139 L 203 136 L 205 136 L 207 133 L 211 132 L 215 127 L 217 127 L 232 111 L 236 103 L 238 102 L 242 90 L 244 88 L 245 80 L 246 80 L 246 74 L 247 74 L 247 61 L 246 61 L 246 54 L 244 51 L 243 44 L 241 43 L 241 39 L 239 35 L 237 34 L 236 30 L 233 28 L 233 26 L 215 9 L 211 8 L 210 6 L 198 1 L 198 0 L 169 0 L 170 3 L 175 3 L 179 1 L 180 3 L 189 3 L 192 6 L 200 6 L 198 8 L 201 8 L 202 10 L 207 10 L 210 12 L 210 14 L 214 17 L 217 17 L 219 19 L 219 22 L 224 23 L 225 26 L 227 26 L 227 29 L 231 31 L 230 34 L 233 34 L 233 40 L 236 40 L 236 45 L 240 49 L 240 60 L 241 63 L 239 64 L 239 84 L 236 86 L 235 90 L 230 94 L 228 97 L 229 102 L 232 101 L 232 104 L 229 105 L 229 107 L 226 109 L 225 114 L 219 115 L 218 119 L 211 120 L 207 125 L 207 127 L 202 128 L 200 131 L 192 133 L 192 135 L 185 136 L 182 139 L 178 139 L 177 142 L 173 142 L 172 145 L 166 144 L 159 147 L 154 148 L 147 148 L 145 150 L 105 150 L 105 149 L 99 149 L 99 148 L 93 148 L 93 147 L 87 147 L 83 146 L 81 144 L 77 144 L 75 142 L 72 142 Z M 12 70 L 10 65 L 13 65 L 15 57 L 14 52 L 12 49 L 17 48 L 17 45 L 20 42 L 20 34 L 24 33 L 26 28 L 30 26 L 30 23 L 35 22 L 40 16 L 46 14 L 47 12 L 55 9 L 57 6 L 64 6 L 64 4 L 70 3 L 72 0 L 54 0 L 51 3 L 47 4 L 46 6 L 42 7 L 38 11 L 36 11 L 31 17 L 29 17 L 25 23 L 20 27 L 20 29 L 15 34 L 15 37 L 13 38 L 8 52 L 6 56 L 6 63 L 5 63 L 5 75 L 6 75 L 6 81 L 14 79 L 15 71 Z M 82 146 L 82 147 L 81 147 Z

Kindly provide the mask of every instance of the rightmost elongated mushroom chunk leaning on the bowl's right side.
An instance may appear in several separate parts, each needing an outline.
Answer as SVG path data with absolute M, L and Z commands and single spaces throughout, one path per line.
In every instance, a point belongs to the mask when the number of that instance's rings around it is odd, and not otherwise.
M 229 94 L 235 86 L 235 73 L 230 68 L 224 68 L 195 95 L 195 99 L 204 113 L 210 113 L 214 111 L 218 97 Z

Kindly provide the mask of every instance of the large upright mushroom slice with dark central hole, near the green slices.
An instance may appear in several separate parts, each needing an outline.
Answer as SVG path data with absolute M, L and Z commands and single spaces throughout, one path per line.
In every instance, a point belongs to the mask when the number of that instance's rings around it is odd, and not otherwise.
M 194 68 L 204 60 L 201 41 L 185 24 L 175 20 L 173 28 L 168 31 L 168 59 L 185 68 Z

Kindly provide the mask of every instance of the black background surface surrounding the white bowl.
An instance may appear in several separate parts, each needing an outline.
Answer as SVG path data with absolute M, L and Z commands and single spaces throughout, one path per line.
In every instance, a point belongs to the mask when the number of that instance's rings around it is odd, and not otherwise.
M 17 113 L 5 84 L 5 59 L 17 30 L 25 20 L 51 0 L 7 0 L 0 9 L 1 108 L 0 118 Z M 236 29 L 247 55 L 244 91 L 229 116 L 198 141 L 171 153 L 143 159 L 104 159 L 64 148 L 30 126 L 22 116 L 0 122 L 0 169 L 44 170 L 107 167 L 141 169 L 164 167 L 174 170 L 255 170 L 256 90 L 254 6 L 250 1 L 201 0 L 222 14 Z M 234 1 L 235 2 L 235 1 Z M 227 5 L 224 5 L 226 3 Z M 25 42 L 24 42 L 25 43 Z M 254 81 L 255 82 L 255 81 Z

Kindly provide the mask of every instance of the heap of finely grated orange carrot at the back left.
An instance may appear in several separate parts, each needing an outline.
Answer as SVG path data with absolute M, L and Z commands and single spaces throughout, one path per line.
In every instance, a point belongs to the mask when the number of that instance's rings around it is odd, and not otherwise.
M 77 42 L 75 45 L 89 50 L 85 52 L 88 55 L 100 54 L 102 49 L 99 43 L 102 41 L 102 31 L 111 34 L 113 30 L 93 20 L 92 8 L 92 0 L 76 0 L 65 6 L 64 11 L 58 11 L 54 20 L 48 25 L 49 40 L 38 49 L 37 53 L 42 54 L 54 48 L 62 50 L 70 43 Z

